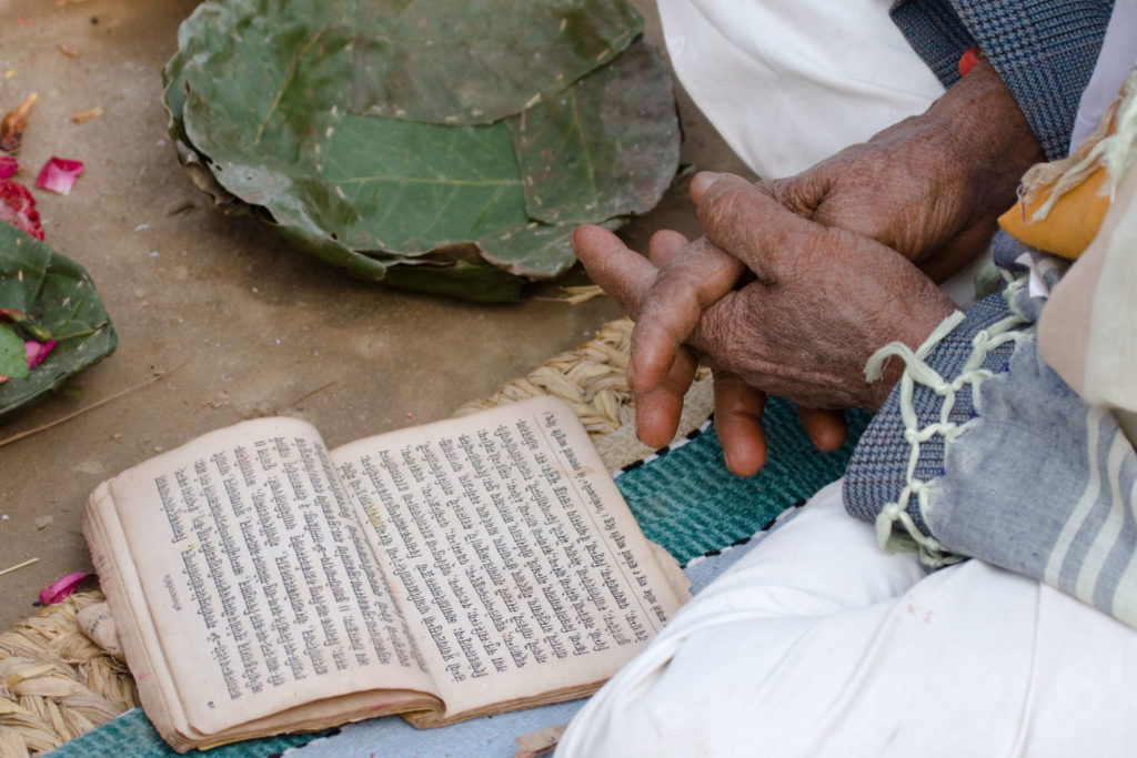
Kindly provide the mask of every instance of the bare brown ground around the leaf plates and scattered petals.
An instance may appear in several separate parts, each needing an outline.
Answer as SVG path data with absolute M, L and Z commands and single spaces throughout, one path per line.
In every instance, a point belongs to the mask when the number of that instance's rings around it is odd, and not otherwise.
M 177 164 L 161 105 L 161 67 L 196 5 L 0 0 L 0 111 L 40 94 L 17 178 L 31 185 L 53 155 L 86 165 L 69 195 L 33 193 L 45 242 L 86 267 L 119 336 L 115 355 L 73 382 L 80 398 L 41 402 L 0 426 L 0 440 L 168 372 L 0 447 L 0 570 L 39 559 L 0 576 L 0 630 L 35 613 L 40 588 L 89 568 L 83 503 L 119 470 L 262 415 L 308 419 L 331 445 L 442 418 L 622 315 L 608 298 L 482 306 L 383 289 L 285 248 L 255 222 L 214 213 Z M 658 41 L 654 3 L 637 5 Z M 678 98 L 683 163 L 745 170 Z M 105 115 L 72 123 L 94 107 Z M 697 233 L 686 186 L 623 234 L 644 250 L 664 227 Z M 579 267 L 559 282 L 581 283 Z M 556 284 L 533 292 L 557 293 Z

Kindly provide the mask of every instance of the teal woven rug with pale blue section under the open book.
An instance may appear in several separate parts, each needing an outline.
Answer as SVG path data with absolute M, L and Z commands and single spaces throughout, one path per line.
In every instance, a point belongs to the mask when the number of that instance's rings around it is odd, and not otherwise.
M 712 425 L 689 439 L 657 451 L 616 474 L 616 484 L 631 506 L 644 533 L 666 548 L 680 564 L 699 556 L 716 556 L 767 528 L 779 514 L 807 500 L 839 477 L 853 445 L 868 425 L 869 415 L 849 414 L 849 440 L 831 453 L 820 453 L 797 420 L 794 407 L 771 399 L 763 425 L 770 453 L 757 476 L 741 478 L 727 470 L 722 448 Z M 735 551 L 738 552 L 738 551 Z M 699 564 L 703 566 L 707 561 Z M 699 570 L 688 568 L 696 591 Z M 724 568 L 713 564 L 715 573 Z M 708 577 L 703 577 L 708 581 Z M 513 738 L 549 724 L 565 723 L 581 701 L 545 706 L 503 716 L 475 718 L 440 730 L 418 732 L 391 716 L 343 730 L 292 734 L 223 745 L 207 751 L 210 758 L 267 758 L 292 749 L 297 758 L 363 756 L 382 758 L 482 758 L 512 755 Z M 342 732 L 342 734 L 341 734 Z M 360 738 L 362 741 L 360 741 Z M 373 751 L 360 745 L 373 745 Z M 402 745 L 401 748 L 398 745 Z M 404 749 L 405 748 L 405 749 Z M 88 732 L 55 750 L 55 758 L 172 758 L 140 708 Z

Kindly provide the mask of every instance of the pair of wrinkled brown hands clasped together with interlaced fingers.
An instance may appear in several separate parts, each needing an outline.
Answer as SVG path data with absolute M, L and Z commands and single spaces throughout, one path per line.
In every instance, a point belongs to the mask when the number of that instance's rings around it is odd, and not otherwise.
M 899 376 L 868 382 L 882 345 L 918 347 L 954 309 L 936 286 L 989 240 L 1019 177 L 1043 158 L 1010 91 L 986 61 L 927 113 L 797 176 L 750 184 L 699 174 L 691 197 L 704 238 L 663 231 L 648 257 L 598 226 L 573 247 L 636 319 L 629 384 L 637 432 L 675 433 L 700 357 L 714 370 L 715 428 L 727 465 L 765 463 L 765 393 L 798 403 L 822 450 L 844 416 L 875 409 Z

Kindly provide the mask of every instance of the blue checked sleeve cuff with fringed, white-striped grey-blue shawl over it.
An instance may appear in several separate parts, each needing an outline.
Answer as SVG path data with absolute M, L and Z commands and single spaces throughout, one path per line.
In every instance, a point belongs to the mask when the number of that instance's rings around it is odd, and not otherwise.
M 845 507 L 930 566 L 980 558 L 1137 626 L 1137 452 L 1038 352 L 1046 298 L 1027 280 L 1054 286 L 1064 265 L 1005 234 L 995 259 L 1011 283 L 906 357 L 849 461 Z

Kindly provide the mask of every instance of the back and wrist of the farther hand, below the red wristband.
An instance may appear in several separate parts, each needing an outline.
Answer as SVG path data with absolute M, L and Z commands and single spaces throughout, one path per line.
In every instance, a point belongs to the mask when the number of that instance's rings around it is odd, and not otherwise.
M 1010 90 L 981 61 L 924 114 L 764 186 L 800 216 L 873 239 L 941 282 L 982 250 L 1039 160 Z

